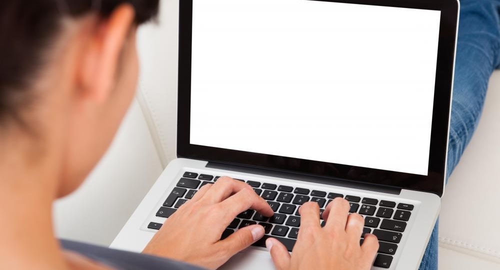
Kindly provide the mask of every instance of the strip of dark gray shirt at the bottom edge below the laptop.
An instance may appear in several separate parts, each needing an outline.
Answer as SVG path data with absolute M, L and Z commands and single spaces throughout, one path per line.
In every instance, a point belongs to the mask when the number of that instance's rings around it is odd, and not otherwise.
M 91 244 L 61 240 L 65 250 L 74 251 L 115 269 L 130 270 L 203 270 L 198 266 L 161 257 L 121 251 Z

